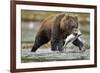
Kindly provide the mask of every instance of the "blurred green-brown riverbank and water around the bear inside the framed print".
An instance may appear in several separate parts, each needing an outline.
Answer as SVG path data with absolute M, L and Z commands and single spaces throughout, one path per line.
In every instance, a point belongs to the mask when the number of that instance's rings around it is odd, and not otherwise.
M 39 27 L 41 26 L 41 22 L 52 14 L 57 13 L 65 13 L 66 15 L 71 16 L 78 16 L 79 20 L 79 28 L 82 33 L 81 39 L 84 43 L 84 48 L 87 49 L 87 51 L 84 54 L 75 53 L 75 48 L 72 43 L 68 44 L 67 48 L 67 54 L 63 53 L 65 55 L 57 55 L 54 56 L 49 53 L 47 53 L 48 50 L 50 50 L 50 42 L 47 44 L 41 46 L 41 49 L 39 49 L 41 52 L 39 52 L 38 55 L 30 55 L 29 49 L 32 48 L 35 40 L 35 36 L 37 34 L 37 31 L 39 30 Z M 74 49 L 73 49 L 74 48 Z M 59 61 L 59 60 L 85 60 L 89 59 L 90 56 L 90 14 L 89 13 L 75 13 L 75 12 L 50 12 L 50 11 L 34 11 L 34 10 L 21 10 L 21 49 L 22 49 L 22 62 L 41 62 L 41 61 Z M 48 50 L 47 50 L 48 49 Z M 71 52 L 70 52 L 71 51 Z M 43 55 L 43 53 L 47 53 L 46 56 Z M 69 56 L 70 55 L 70 56 Z M 48 58 L 49 57 L 49 58 Z

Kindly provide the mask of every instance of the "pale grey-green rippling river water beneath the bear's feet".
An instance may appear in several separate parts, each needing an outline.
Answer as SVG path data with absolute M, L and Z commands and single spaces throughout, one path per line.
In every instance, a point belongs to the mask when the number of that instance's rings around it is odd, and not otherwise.
M 80 52 L 78 49 L 66 49 L 64 52 L 53 52 L 50 48 L 39 48 L 35 53 L 31 49 L 22 49 L 21 61 L 26 62 L 46 62 L 46 61 L 69 61 L 69 60 L 89 60 L 89 49 Z

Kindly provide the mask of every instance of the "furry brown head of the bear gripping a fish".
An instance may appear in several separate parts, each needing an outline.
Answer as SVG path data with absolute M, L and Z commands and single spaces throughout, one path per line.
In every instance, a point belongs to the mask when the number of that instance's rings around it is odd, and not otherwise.
M 61 29 L 67 34 L 77 34 L 78 33 L 78 17 L 65 15 L 61 19 Z

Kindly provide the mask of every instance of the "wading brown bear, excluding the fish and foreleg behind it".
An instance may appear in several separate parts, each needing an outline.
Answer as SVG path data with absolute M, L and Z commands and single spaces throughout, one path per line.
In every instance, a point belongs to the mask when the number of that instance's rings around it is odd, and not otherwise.
M 44 19 L 37 32 L 32 52 L 51 41 L 52 51 L 63 51 L 64 40 L 78 30 L 78 17 L 64 13 L 53 14 Z

